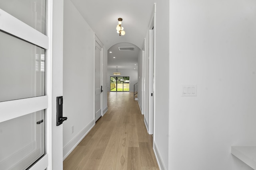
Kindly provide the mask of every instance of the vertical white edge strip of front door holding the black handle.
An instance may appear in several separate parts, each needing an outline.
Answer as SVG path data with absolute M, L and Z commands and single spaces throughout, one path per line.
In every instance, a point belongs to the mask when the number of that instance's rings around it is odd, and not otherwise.
M 63 124 L 56 126 L 56 97 L 63 96 L 63 14 L 64 0 L 50 0 L 52 17 L 50 28 L 50 49 L 52 58 L 52 129 L 50 135 L 52 155 L 50 170 L 63 170 Z M 63 97 L 65 100 L 65 96 Z M 63 103 L 65 104 L 65 102 Z M 65 116 L 65 115 L 63 115 Z M 68 121 L 68 120 L 67 120 Z M 63 122 L 65 123 L 65 121 Z

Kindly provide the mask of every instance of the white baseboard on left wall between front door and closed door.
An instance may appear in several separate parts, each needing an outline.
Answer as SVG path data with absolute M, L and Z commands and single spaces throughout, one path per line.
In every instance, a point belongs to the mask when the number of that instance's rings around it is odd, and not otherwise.
M 70 141 L 64 148 L 63 148 L 63 160 L 65 160 L 68 155 L 75 149 L 75 147 L 84 139 L 87 133 L 94 127 L 94 119 L 80 132 L 72 141 Z

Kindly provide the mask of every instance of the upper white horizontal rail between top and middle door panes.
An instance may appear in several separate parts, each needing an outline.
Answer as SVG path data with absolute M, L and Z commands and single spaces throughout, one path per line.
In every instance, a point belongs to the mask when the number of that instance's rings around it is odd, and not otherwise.
M 17 29 L 18 28 L 18 29 Z M 30 43 L 48 49 L 48 37 L 0 9 L 0 29 Z

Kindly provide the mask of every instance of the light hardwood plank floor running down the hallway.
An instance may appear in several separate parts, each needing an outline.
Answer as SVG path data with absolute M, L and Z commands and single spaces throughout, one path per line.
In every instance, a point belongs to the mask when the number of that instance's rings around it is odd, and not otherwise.
M 64 170 L 158 170 L 133 92 L 108 92 L 108 111 L 63 162 Z

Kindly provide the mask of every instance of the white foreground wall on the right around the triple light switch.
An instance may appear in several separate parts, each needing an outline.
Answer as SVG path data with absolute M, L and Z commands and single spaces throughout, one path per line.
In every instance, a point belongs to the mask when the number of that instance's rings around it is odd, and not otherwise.
M 168 169 L 251 170 L 230 147 L 256 145 L 255 11 L 253 0 L 170 1 Z

